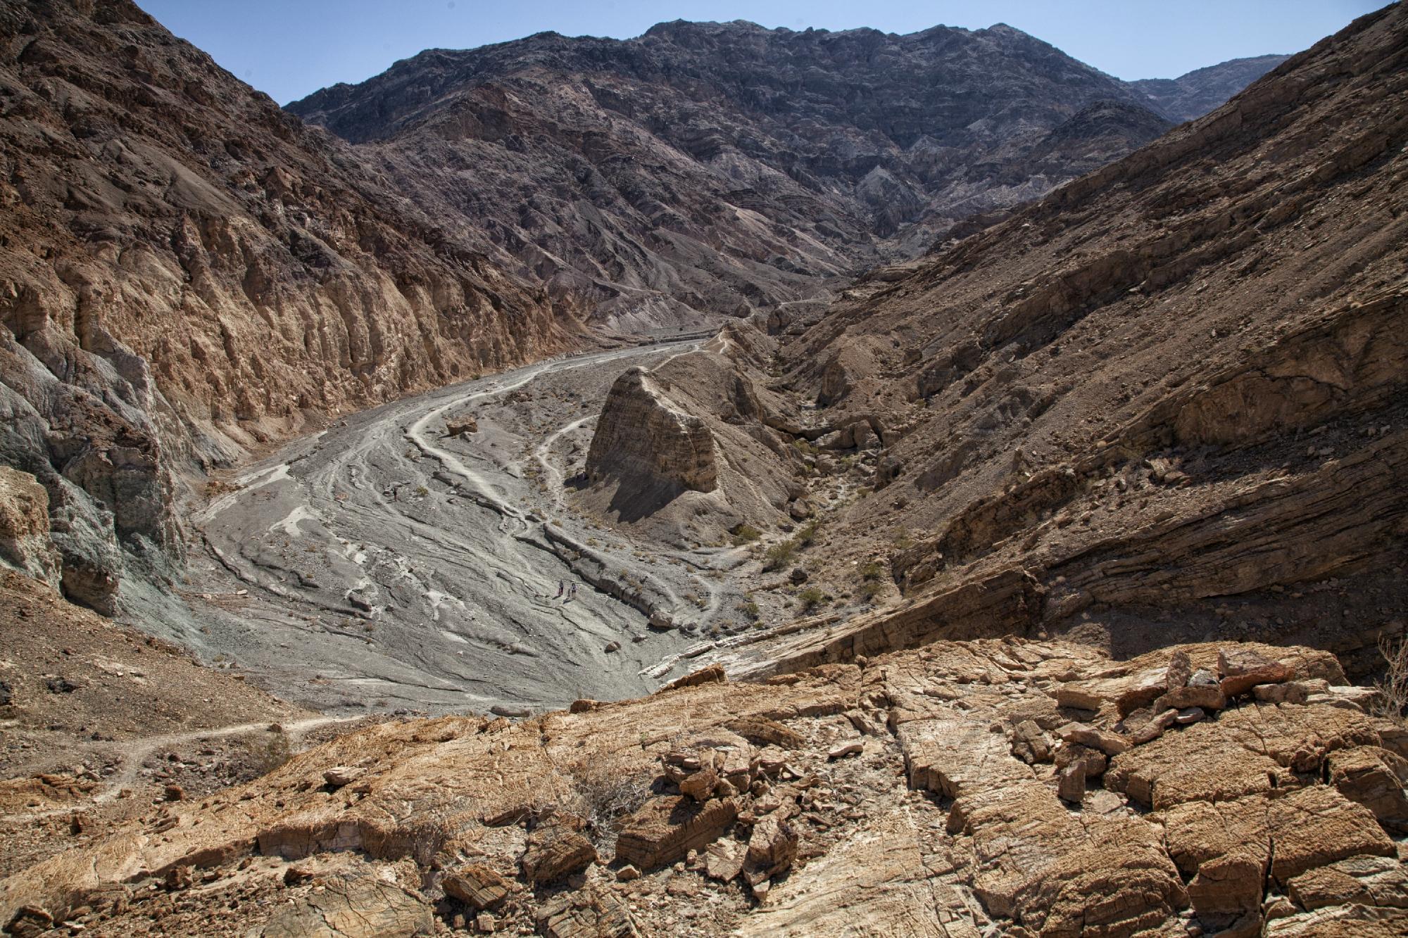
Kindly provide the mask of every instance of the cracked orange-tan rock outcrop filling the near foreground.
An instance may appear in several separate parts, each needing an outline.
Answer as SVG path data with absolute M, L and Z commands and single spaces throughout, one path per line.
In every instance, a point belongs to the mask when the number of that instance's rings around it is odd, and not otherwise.
M 148 934 L 218 906 L 232 931 L 291 934 L 365 904 L 382 934 L 428 914 L 562 935 L 1402 930 L 1384 766 L 1408 731 L 1347 693 L 1257 703 L 1262 684 L 1159 725 L 1149 694 L 1238 676 L 1225 672 L 1239 655 L 1295 682 L 1345 680 L 1304 648 L 1111 661 L 1062 642 L 938 642 L 767 683 L 711 675 L 517 727 L 384 723 L 0 880 L 0 917 Z M 1080 793 L 1064 783 L 1073 761 Z M 332 765 L 366 775 L 329 794 Z

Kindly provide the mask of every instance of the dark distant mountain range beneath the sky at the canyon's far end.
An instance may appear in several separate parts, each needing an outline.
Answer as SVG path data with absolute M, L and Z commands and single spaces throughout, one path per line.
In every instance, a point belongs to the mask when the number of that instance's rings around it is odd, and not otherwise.
M 636 331 L 776 307 L 922 254 L 1271 63 L 1197 72 L 1155 99 L 1001 24 L 676 21 L 625 41 L 429 49 L 289 110 L 359 144 L 456 237 Z

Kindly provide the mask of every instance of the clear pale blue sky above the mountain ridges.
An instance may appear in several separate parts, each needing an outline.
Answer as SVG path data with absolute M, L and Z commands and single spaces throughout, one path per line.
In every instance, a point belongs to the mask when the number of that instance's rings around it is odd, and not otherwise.
M 1176 77 L 1298 52 L 1374 0 L 137 0 L 176 35 L 280 104 L 360 82 L 427 48 L 463 49 L 555 30 L 628 38 L 663 20 L 914 32 L 1007 23 L 1122 79 Z

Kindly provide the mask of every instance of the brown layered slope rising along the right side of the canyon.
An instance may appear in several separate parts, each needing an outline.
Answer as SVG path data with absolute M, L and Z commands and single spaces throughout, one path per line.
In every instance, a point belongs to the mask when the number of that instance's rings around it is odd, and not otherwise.
M 818 552 L 905 592 L 798 665 L 994 631 L 1378 662 L 1408 594 L 1408 13 L 895 276 L 777 323 L 873 492 Z M 852 434 L 853 435 L 853 434 Z M 773 655 L 773 651 L 766 652 Z

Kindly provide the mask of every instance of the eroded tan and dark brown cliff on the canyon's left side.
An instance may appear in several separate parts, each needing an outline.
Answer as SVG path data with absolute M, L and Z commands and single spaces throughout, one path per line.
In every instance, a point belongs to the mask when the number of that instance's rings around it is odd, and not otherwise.
M 125 0 L 0 10 L 0 459 L 94 608 L 180 556 L 173 470 L 576 328 Z

